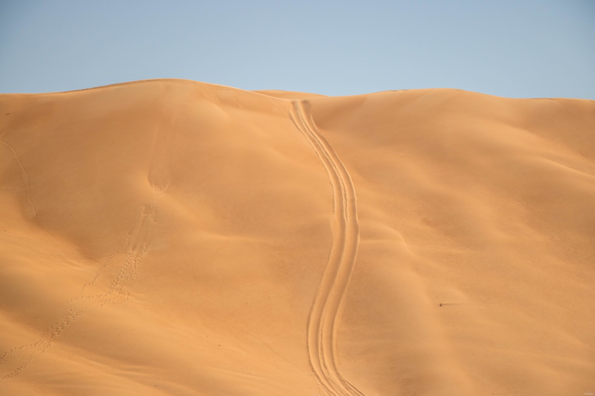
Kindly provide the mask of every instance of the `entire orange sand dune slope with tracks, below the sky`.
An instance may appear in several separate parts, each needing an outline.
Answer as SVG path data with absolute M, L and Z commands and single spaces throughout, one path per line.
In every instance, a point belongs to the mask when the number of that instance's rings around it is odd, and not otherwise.
M 595 392 L 595 102 L 0 95 L 0 395 Z

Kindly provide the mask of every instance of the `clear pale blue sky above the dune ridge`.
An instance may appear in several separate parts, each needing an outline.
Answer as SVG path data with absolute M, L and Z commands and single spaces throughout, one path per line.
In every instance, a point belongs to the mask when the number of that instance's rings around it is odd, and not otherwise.
M 595 99 L 595 0 L 0 0 L 0 93 L 146 78 Z

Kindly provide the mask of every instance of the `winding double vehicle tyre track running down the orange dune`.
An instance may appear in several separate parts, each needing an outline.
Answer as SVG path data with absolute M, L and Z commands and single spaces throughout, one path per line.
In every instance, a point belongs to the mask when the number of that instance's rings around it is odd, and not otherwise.
M 333 186 L 333 246 L 308 315 L 306 344 L 310 365 L 328 394 L 364 396 L 337 366 L 337 331 L 359 243 L 355 188 L 345 165 L 318 131 L 309 103 L 294 100 L 292 106 L 293 123 L 316 151 Z

